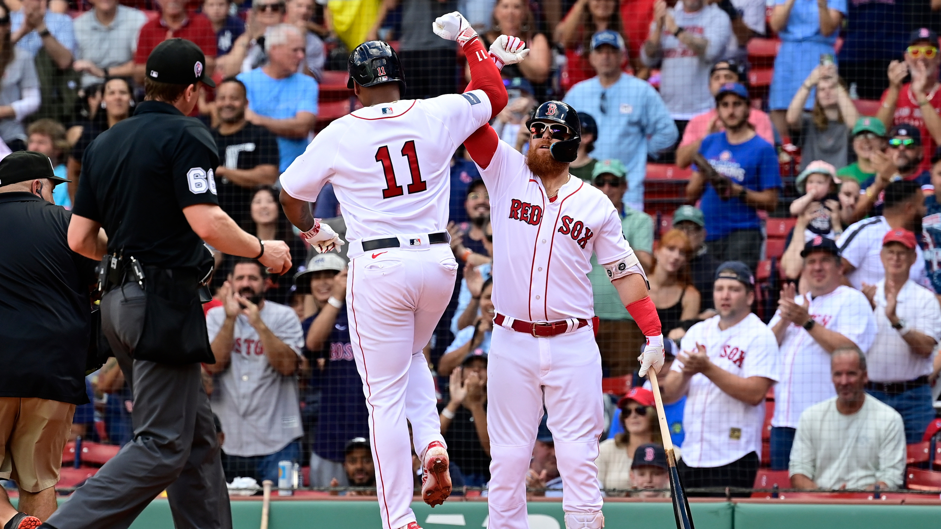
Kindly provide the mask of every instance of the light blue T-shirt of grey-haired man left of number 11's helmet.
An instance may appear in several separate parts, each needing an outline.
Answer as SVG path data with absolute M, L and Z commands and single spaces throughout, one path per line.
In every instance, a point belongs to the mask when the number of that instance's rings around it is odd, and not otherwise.
M 320 87 L 309 75 L 293 73 L 283 79 L 273 79 L 261 68 L 256 68 L 251 72 L 239 73 L 236 78 L 245 83 L 248 108 L 256 114 L 275 120 L 288 120 L 298 112 L 317 113 Z M 278 170 L 284 172 L 304 152 L 307 144 L 307 137 L 278 136 Z

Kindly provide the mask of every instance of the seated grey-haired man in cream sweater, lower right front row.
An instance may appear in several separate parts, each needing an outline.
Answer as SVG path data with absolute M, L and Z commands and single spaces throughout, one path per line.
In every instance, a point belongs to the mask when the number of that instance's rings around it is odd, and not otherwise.
M 837 396 L 801 413 L 788 473 L 794 489 L 898 489 L 905 470 L 899 412 L 864 390 L 866 356 L 844 345 L 830 358 Z

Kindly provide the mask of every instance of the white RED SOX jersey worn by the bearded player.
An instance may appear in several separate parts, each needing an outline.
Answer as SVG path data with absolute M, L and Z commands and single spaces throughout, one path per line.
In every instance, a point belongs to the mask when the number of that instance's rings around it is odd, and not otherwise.
M 611 200 L 570 175 L 550 200 L 525 157 L 504 141 L 480 174 L 490 194 L 497 312 L 533 322 L 592 318 L 592 252 L 600 264 L 633 253 Z

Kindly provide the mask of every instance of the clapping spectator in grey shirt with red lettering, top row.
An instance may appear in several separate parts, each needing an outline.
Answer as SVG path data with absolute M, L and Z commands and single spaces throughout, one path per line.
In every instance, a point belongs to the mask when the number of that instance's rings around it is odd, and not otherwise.
M 685 0 L 673 8 L 654 4 L 650 35 L 641 49 L 644 64 L 660 64 L 660 92 L 679 134 L 686 122 L 712 107 L 710 69 L 726 51 L 732 34 L 725 11 L 705 0 Z

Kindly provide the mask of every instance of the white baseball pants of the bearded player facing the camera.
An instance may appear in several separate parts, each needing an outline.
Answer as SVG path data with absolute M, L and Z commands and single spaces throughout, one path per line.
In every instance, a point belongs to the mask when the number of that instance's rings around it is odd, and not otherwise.
M 495 326 L 486 368 L 489 529 L 529 529 L 526 473 L 545 400 L 566 513 L 601 510 L 601 355 L 591 326 L 551 338 Z

